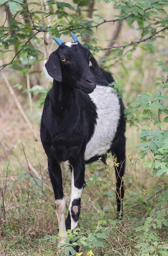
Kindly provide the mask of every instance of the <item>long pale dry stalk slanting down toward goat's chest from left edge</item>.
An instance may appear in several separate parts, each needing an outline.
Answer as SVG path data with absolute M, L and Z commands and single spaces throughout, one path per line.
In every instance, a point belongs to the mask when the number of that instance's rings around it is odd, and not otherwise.
M 2 79 L 4 79 L 4 81 L 5 81 L 6 85 L 7 85 L 7 88 L 9 89 L 9 92 L 11 93 L 11 95 L 12 95 L 12 97 L 13 97 L 13 99 L 14 99 L 14 101 L 15 101 L 17 107 L 18 107 L 18 109 L 20 110 L 20 113 L 21 113 L 23 119 L 26 121 L 27 125 L 29 126 L 29 128 L 30 128 L 31 131 L 33 132 L 33 136 L 34 136 L 34 138 L 35 138 L 35 141 L 38 141 L 38 139 L 37 139 L 37 137 L 36 137 L 36 135 L 35 135 L 35 132 L 34 132 L 34 130 L 33 130 L 33 126 L 31 125 L 31 122 L 30 122 L 29 119 L 27 118 L 27 115 L 25 114 L 25 112 L 24 112 L 24 110 L 23 110 L 23 108 L 22 108 L 20 102 L 18 101 L 18 99 L 17 99 L 17 97 L 16 97 L 16 94 L 15 94 L 13 88 L 11 87 L 11 85 L 9 84 L 9 81 L 7 80 L 7 77 L 4 75 L 3 72 L 1 72 L 1 76 L 2 76 Z

